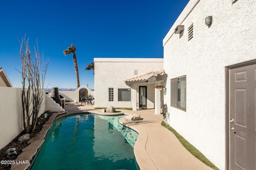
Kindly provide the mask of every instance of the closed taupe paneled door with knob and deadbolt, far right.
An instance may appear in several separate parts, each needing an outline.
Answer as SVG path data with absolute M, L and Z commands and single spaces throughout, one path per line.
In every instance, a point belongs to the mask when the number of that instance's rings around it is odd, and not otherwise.
M 231 170 L 256 170 L 255 101 L 256 64 L 230 69 Z

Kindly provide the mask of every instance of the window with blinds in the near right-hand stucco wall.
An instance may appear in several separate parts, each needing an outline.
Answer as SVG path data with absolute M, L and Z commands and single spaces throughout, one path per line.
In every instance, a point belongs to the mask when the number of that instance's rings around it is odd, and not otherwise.
M 171 106 L 186 111 L 186 76 L 171 79 Z

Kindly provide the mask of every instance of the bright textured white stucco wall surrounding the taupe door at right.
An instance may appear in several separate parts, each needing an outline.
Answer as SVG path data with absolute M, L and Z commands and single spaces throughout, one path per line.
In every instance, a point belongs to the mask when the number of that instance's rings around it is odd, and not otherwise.
M 213 18 L 210 27 L 204 23 L 207 16 Z M 194 35 L 188 41 L 192 23 Z M 255 24 L 255 1 L 238 0 L 232 5 L 231 0 L 190 0 L 163 40 L 169 123 L 222 170 L 226 159 L 225 66 L 256 59 Z M 184 25 L 183 35 L 173 34 L 177 25 Z M 184 75 L 186 111 L 170 106 L 170 79 Z

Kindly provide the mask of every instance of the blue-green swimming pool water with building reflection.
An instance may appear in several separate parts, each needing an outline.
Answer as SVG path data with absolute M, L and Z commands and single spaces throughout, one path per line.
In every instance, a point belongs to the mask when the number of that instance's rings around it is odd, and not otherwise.
M 139 170 L 133 146 L 138 133 L 122 116 L 78 114 L 54 122 L 32 170 Z

